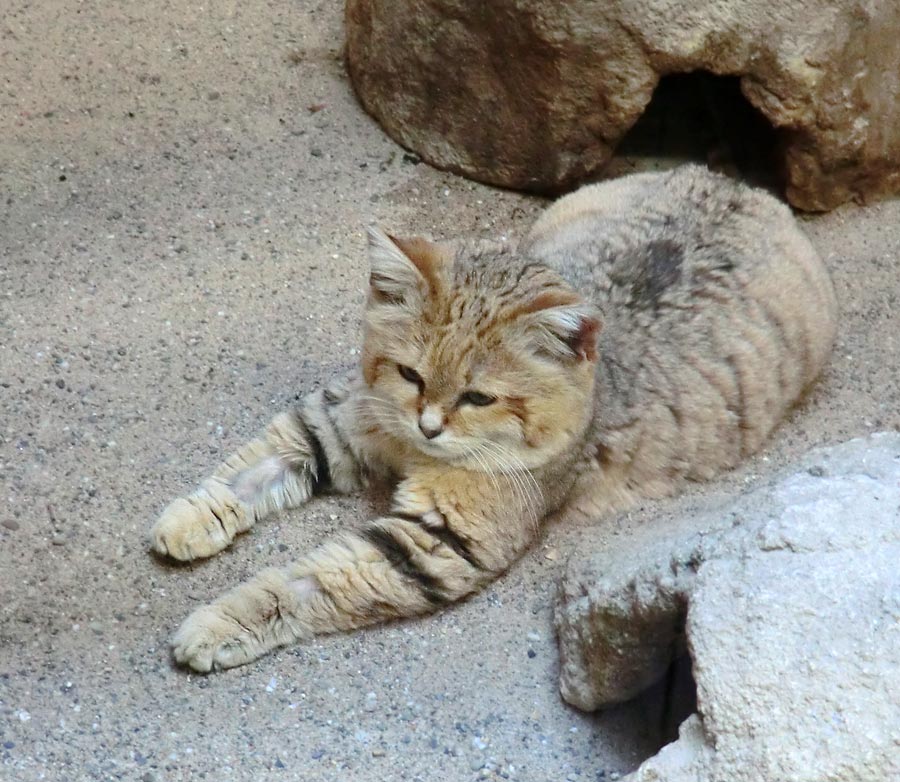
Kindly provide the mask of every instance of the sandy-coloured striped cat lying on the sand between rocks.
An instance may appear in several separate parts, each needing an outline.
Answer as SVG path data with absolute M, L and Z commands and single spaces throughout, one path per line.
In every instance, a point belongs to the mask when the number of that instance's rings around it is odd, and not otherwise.
M 358 373 L 274 418 L 151 531 L 209 557 L 270 512 L 395 480 L 390 512 L 194 611 L 178 663 L 228 668 L 433 611 L 559 509 L 626 508 L 753 453 L 822 369 L 828 273 L 790 211 L 699 166 L 586 186 L 518 246 L 371 229 Z

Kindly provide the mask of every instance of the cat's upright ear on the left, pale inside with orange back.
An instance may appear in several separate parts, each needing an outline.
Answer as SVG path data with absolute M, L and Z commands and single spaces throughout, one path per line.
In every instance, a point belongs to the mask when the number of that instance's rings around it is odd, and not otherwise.
M 370 226 L 369 284 L 376 301 L 414 304 L 434 295 L 444 254 L 427 239 L 397 239 Z

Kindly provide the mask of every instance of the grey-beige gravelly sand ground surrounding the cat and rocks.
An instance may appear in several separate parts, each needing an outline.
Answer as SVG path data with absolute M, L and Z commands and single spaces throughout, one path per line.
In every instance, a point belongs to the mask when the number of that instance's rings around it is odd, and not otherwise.
M 652 535 L 807 447 L 898 426 L 900 202 L 806 227 L 834 272 L 824 382 L 765 454 L 681 505 L 560 524 L 425 620 L 209 677 L 167 639 L 201 602 L 368 512 L 326 498 L 174 567 L 166 502 L 351 366 L 361 228 L 521 232 L 542 203 L 404 155 L 340 61 L 339 0 L 6 0 L 0 17 L 0 779 L 607 780 L 647 703 L 556 687 L 567 552 Z

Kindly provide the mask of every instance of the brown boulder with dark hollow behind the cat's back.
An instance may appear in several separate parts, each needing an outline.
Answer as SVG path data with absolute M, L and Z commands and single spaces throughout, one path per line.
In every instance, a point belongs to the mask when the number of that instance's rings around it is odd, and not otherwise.
M 558 191 L 600 169 L 663 75 L 740 78 L 788 200 L 900 190 L 900 5 L 861 0 L 347 0 L 363 103 L 429 163 Z

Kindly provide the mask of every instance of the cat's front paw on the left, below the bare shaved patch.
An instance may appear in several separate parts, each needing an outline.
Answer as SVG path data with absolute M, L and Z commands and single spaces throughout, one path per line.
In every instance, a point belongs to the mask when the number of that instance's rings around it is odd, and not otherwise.
M 204 487 L 168 505 L 150 530 L 150 547 L 182 562 L 211 557 L 246 527 L 245 516 L 226 486 Z

